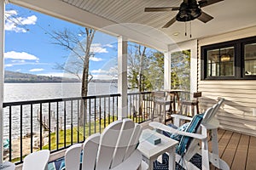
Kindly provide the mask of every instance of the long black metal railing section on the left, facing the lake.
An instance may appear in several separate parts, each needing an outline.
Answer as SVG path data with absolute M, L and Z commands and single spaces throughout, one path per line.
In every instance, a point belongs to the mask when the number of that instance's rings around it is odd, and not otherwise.
M 101 133 L 104 127 L 117 120 L 119 96 L 3 103 L 4 138 L 9 140 L 5 158 L 18 164 L 35 150 L 63 150 L 83 142 L 92 133 Z

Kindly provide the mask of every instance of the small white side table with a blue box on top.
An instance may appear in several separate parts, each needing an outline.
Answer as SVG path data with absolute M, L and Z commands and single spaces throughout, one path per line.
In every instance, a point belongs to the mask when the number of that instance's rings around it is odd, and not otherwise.
M 161 139 L 160 144 L 151 144 L 148 140 L 143 139 L 144 134 L 154 134 Z M 148 160 L 148 169 L 153 170 L 153 162 L 158 156 L 168 153 L 169 154 L 169 170 L 175 169 L 175 146 L 178 143 L 174 139 L 170 139 L 163 134 L 157 133 L 150 129 L 143 130 L 143 133 L 139 139 L 140 144 L 138 150 L 140 150 L 143 156 Z

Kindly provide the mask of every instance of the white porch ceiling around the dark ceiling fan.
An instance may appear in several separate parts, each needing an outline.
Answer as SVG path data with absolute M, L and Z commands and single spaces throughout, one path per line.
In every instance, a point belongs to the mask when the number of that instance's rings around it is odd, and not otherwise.
M 202 8 L 214 19 L 191 22 L 192 38 L 184 36 L 184 23 L 161 28 L 177 12 L 145 13 L 145 7 L 179 6 L 182 0 L 9 0 L 81 26 L 89 26 L 114 36 L 125 36 L 160 50 L 168 44 L 211 37 L 221 33 L 256 26 L 255 0 L 224 0 Z M 177 36 L 173 34 L 179 32 Z M 189 25 L 188 25 L 189 32 Z

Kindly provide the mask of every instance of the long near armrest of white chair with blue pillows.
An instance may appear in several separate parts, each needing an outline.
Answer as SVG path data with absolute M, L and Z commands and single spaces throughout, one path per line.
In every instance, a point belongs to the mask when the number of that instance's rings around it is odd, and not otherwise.
M 199 134 L 199 133 L 187 133 L 187 132 L 179 131 L 175 128 L 168 127 L 168 126 L 166 126 L 166 125 L 164 125 L 160 122 L 150 122 L 149 126 L 153 127 L 154 129 L 159 129 L 161 131 L 165 131 L 165 132 L 168 132 L 168 133 L 181 134 L 181 135 L 184 135 L 184 136 L 188 136 L 188 137 L 195 138 L 195 139 L 200 139 L 200 140 L 207 139 L 207 136 L 205 136 L 205 135 L 202 135 L 202 134 Z

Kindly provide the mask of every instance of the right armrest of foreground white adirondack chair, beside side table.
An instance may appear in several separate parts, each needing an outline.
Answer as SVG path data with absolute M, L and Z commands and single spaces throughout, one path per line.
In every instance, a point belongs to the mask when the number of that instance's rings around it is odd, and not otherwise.
M 142 163 L 143 155 L 139 150 L 134 150 L 134 152 L 125 161 L 120 163 L 118 166 L 113 167 L 111 170 L 131 170 L 137 169 Z

